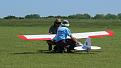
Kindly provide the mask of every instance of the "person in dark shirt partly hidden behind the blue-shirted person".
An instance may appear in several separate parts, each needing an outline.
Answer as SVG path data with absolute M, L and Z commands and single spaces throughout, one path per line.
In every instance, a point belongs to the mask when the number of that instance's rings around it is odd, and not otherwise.
M 49 28 L 49 34 L 56 34 L 57 33 L 57 29 L 58 27 L 61 25 L 61 19 L 57 18 L 54 21 L 54 24 Z M 52 45 L 55 45 L 55 43 L 52 40 L 48 40 L 48 50 L 51 51 L 52 50 Z

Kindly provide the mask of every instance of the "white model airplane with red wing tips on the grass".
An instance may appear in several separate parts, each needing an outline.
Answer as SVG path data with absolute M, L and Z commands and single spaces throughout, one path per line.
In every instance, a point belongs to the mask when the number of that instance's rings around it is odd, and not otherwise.
M 99 46 L 92 46 L 91 38 L 101 38 L 104 36 L 113 36 L 113 32 L 111 30 L 108 31 L 96 31 L 96 32 L 84 32 L 84 33 L 72 33 L 72 36 L 76 39 L 86 38 L 84 44 L 79 44 L 79 46 L 74 47 L 75 50 L 78 51 L 90 51 L 90 50 L 98 50 L 101 49 Z M 41 34 L 41 35 L 19 35 L 18 37 L 23 40 L 41 40 L 47 41 L 52 40 L 56 34 Z M 68 39 L 70 37 L 67 37 Z

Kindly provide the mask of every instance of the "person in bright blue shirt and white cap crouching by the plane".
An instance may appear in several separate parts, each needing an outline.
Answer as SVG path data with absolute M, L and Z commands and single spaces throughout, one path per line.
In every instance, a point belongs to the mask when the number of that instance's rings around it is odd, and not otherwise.
M 67 52 L 71 52 L 71 50 L 74 49 L 75 45 L 78 44 L 78 41 L 72 36 L 68 26 L 69 21 L 63 20 L 61 26 L 57 30 L 56 36 L 53 39 L 56 43 L 56 51 L 59 53 L 64 52 L 65 48 L 67 48 Z

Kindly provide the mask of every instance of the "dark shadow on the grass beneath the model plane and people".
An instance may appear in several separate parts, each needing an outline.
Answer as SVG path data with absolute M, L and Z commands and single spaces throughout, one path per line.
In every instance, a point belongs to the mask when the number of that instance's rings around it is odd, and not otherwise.
M 99 51 L 90 51 L 90 52 L 86 52 L 86 51 L 74 51 L 72 53 L 62 53 L 62 54 L 97 54 L 99 52 L 102 52 L 101 50 Z M 12 53 L 12 54 L 57 54 L 56 52 L 53 51 L 48 51 L 48 50 L 38 50 L 36 52 L 19 52 L 19 53 Z M 61 54 L 61 53 L 60 53 Z

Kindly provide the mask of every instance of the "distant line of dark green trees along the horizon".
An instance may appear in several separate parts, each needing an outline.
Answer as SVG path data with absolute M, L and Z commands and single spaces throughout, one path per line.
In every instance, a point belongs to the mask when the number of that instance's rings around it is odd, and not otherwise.
M 47 17 L 41 17 L 39 14 L 29 14 L 25 17 L 16 17 L 13 15 L 9 15 L 6 17 L 3 17 L 1 19 L 41 19 L 41 18 L 69 18 L 69 19 L 121 19 L 121 13 L 115 15 L 115 14 L 96 14 L 95 16 L 91 16 L 89 14 L 73 14 L 69 16 L 47 16 Z

